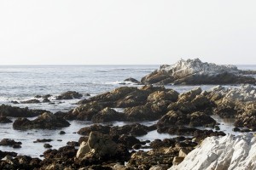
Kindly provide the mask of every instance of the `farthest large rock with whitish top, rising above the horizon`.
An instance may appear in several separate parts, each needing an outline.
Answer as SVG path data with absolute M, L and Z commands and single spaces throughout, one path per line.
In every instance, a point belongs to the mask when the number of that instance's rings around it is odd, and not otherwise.
M 180 59 L 174 65 L 161 65 L 159 70 L 143 77 L 144 84 L 236 84 L 252 83 L 253 77 L 242 75 L 234 65 L 215 65 L 200 59 Z

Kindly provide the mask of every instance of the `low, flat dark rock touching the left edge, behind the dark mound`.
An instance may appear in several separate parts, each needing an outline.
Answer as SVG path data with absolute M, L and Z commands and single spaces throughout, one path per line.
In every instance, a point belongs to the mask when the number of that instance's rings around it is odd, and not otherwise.
M 44 112 L 49 112 L 45 110 L 29 110 L 26 108 L 13 107 L 10 105 L 0 105 L 0 115 L 1 116 L 12 116 L 12 117 L 33 117 L 39 116 Z

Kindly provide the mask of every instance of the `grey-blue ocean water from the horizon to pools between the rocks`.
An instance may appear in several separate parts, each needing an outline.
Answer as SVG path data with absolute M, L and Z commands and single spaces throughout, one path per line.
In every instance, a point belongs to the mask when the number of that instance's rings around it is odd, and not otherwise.
M 36 95 L 51 94 L 54 105 L 40 104 L 16 104 L 18 107 L 30 109 L 44 109 L 55 113 L 56 111 L 70 111 L 77 105 L 79 99 L 55 100 L 55 96 L 69 90 L 80 94 L 102 94 L 114 88 L 122 86 L 136 86 L 135 84 L 123 85 L 126 78 L 133 77 L 141 80 L 148 73 L 158 69 L 160 65 L 0 65 L 0 105 L 15 105 L 11 101 L 24 101 L 34 99 Z M 237 65 L 242 70 L 256 70 L 256 65 Z M 199 86 L 166 86 L 179 93 L 189 91 Z M 211 85 L 200 86 L 203 90 L 212 88 Z M 83 98 L 88 98 L 84 96 Z M 218 117 L 216 117 L 218 119 Z M 15 120 L 15 118 L 12 118 Z M 221 130 L 232 133 L 230 120 L 218 120 Z M 80 135 L 75 133 L 81 127 L 90 126 L 91 122 L 71 121 L 70 127 L 58 130 L 14 130 L 12 124 L 0 124 L 0 140 L 15 139 L 22 142 L 20 149 L 0 146 L 0 150 L 15 151 L 21 155 L 40 156 L 46 150 L 43 143 L 33 143 L 36 139 L 53 139 L 49 144 L 53 149 L 58 149 L 68 141 L 78 141 Z M 132 122 L 112 122 L 113 125 L 122 126 Z M 154 124 L 154 122 L 143 122 Z M 63 130 L 66 134 L 61 135 Z M 234 132 L 233 132 L 234 133 Z M 139 139 L 165 139 L 174 136 L 159 134 L 156 131 Z M 60 140 L 61 141 L 58 141 Z

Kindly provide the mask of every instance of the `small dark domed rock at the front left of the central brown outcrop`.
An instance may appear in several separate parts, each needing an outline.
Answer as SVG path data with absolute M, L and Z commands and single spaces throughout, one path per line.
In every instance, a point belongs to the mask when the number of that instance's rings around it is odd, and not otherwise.
M 113 109 L 106 107 L 96 115 L 92 116 L 92 122 L 114 122 L 114 121 L 125 121 L 125 115 L 114 111 Z

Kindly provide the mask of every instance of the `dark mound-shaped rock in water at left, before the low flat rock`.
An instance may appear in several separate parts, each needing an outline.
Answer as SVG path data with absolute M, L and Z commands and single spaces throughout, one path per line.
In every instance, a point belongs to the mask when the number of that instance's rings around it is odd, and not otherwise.
M 68 127 L 70 124 L 66 120 L 55 116 L 52 113 L 45 112 L 44 114 L 38 116 L 33 121 L 26 118 L 18 118 L 13 123 L 15 129 L 32 129 L 32 128 L 42 128 L 42 129 L 55 129 L 61 127 Z

